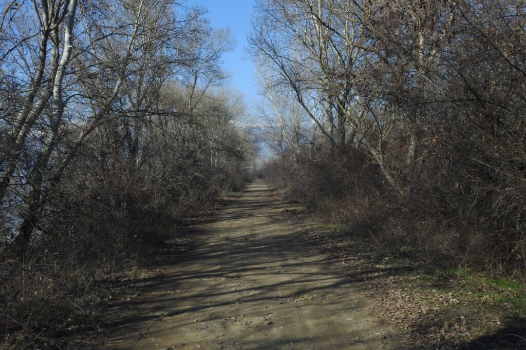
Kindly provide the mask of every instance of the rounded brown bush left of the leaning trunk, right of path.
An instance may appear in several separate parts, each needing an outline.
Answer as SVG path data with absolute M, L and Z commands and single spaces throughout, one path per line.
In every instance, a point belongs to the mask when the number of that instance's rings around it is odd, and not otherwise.
M 378 167 L 353 146 L 304 152 L 267 164 L 262 176 L 288 200 L 307 205 L 330 222 L 366 222 L 385 188 Z

